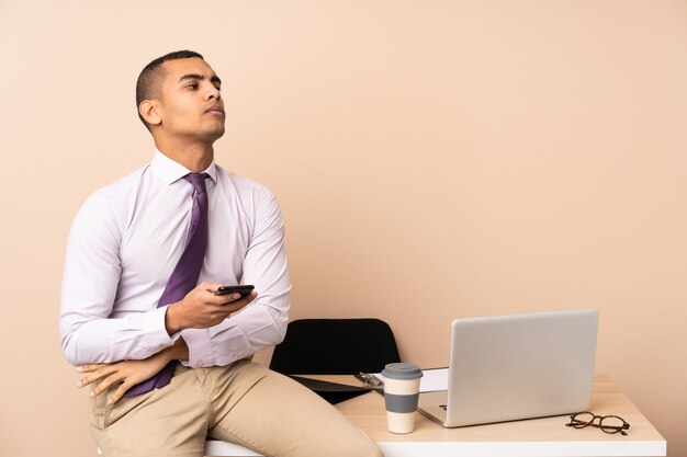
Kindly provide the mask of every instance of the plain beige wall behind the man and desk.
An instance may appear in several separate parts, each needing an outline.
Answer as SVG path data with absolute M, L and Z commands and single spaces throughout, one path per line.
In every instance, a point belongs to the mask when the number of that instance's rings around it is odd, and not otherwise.
M 597 307 L 597 372 L 687 455 L 685 1 L 0 0 L 1 455 L 94 455 L 67 233 L 151 157 L 135 79 L 179 48 L 225 82 L 217 161 L 279 196 L 293 318 L 431 367 L 453 318 Z

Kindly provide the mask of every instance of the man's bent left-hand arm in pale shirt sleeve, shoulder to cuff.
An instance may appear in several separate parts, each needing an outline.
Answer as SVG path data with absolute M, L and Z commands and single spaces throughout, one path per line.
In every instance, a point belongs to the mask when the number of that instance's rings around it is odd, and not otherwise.
M 63 350 L 72 365 L 143 359 L 173 344 L 166 309 L 111 318 L 122 274 L 123 229 L 111 188 L 83 204 L 69 233 L 61 289 Z

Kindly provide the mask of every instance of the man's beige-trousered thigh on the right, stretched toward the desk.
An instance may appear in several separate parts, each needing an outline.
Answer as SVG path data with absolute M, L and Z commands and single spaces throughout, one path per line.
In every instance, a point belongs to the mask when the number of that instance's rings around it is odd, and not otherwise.
M 216 392 L 210 436 L 270 457 L 382 456 L 360 429 L 293 379 L 248 362 L 236 364 L 233 372 L 233 382 L 244 386 L 228 390 L 243 395 L 226 401 Z M 218 385 L 225 381 L 217 380 Z

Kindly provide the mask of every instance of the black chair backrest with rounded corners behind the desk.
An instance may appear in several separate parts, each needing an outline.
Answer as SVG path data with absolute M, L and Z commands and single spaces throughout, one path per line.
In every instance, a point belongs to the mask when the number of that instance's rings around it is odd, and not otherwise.
M 286 375 L 380 373 L 401 362 L 388 324 L 379 319 L 302 319 L 289 323 L 270 368 Z

